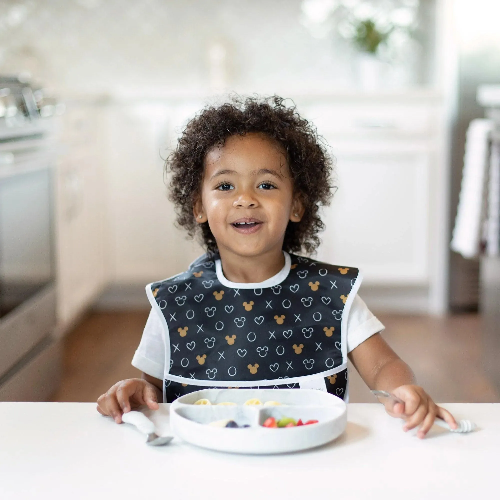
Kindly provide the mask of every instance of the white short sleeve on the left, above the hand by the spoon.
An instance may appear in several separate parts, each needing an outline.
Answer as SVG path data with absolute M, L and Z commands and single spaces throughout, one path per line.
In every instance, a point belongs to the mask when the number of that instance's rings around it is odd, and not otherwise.
M 164 338 L 161 320 L 157 312 L 151 309 L 139 346 L 133 356 L 132 366 L 162 380 L 165 364 Z

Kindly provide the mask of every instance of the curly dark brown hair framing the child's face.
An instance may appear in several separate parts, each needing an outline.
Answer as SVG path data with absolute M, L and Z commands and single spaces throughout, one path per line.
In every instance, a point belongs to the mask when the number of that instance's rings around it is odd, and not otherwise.
M 305 208 L 300 222 L 288 222 L 283 249 L 313 253 L 320 243 L 318 232 L 324 229 L 319 207 L 328 205 L 332 197 L 333 159 L 312 123 L 276 95 L 234 97 L 218 107 L 206 107 L 187 123 L 165 164 L 171 174 L 169 199 L 175 205 L 177 225 L 191 238 L 200 230 L 208 253 L 217 253 L 208 222 L 198 224 L 192 212 L 201 190 L 205 155 L 213 146 L 222 146 L 227 137 L 249 132 L 265 134 L 284 148 L 294 192 Z

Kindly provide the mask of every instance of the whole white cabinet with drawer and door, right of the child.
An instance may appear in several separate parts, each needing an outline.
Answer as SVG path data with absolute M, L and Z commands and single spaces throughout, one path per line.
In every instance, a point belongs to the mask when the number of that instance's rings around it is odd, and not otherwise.
M 362 268 L 361 294 L 374 308 L 444 308 L 446 268 L 436 261 L 446 245 L 446 214 L 437 213 L 446 209 L 441 109 L 425 94 L 299 108 L 335 156 L 338 189 L 323 209 L 318 258 Z

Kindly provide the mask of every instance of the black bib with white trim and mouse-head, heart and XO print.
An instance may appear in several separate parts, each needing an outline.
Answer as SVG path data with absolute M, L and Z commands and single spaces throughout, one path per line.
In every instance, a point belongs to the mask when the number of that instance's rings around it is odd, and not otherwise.
M 344 330 L 358 269 L 286 253 L 285 260 L 277 279 L 237 285 L 223 277 L 219 260 L 203 255 L 146 287 L 164 326 L 165 387 L 280 386 L 285 379 L 295 386 L 314 378 L 335 385 L 346 369 Z

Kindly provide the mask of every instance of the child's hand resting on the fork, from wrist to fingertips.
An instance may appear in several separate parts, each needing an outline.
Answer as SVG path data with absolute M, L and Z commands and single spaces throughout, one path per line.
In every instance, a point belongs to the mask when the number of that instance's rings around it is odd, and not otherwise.
M 457 428 L 453 415 L 444 408 L 437 406 L 430 396 L 418 385 L 400 385 L 391 392 L 404 401 L 404 405 L 397 402 L 393 404 L 390 401 L 382 402 L 390 416 L 406 420 L 403 426 L 404 432 L 420 425 L 416 435 L 420 439 L 423 439 L 425 434 L 430 430 L 430 427 L 432 427 L 436 417 L 442 418 L 452 429 Z

